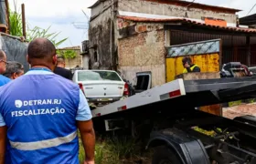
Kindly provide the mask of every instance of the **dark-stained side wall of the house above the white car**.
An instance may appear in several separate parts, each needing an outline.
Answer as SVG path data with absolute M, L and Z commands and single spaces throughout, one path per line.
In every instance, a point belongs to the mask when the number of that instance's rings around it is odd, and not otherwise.
M 111 69 L 115 61 L 116 39 L 115 25 L 112 21 L 111 2 L 105 1 L 91 10 L 91 22 L 89 27 L 89 40 L 91 68 L 93 69 Z M 112 49 L 112 50 L 111 50 Z M 98 60 L 95 59 L 97 53 Z

